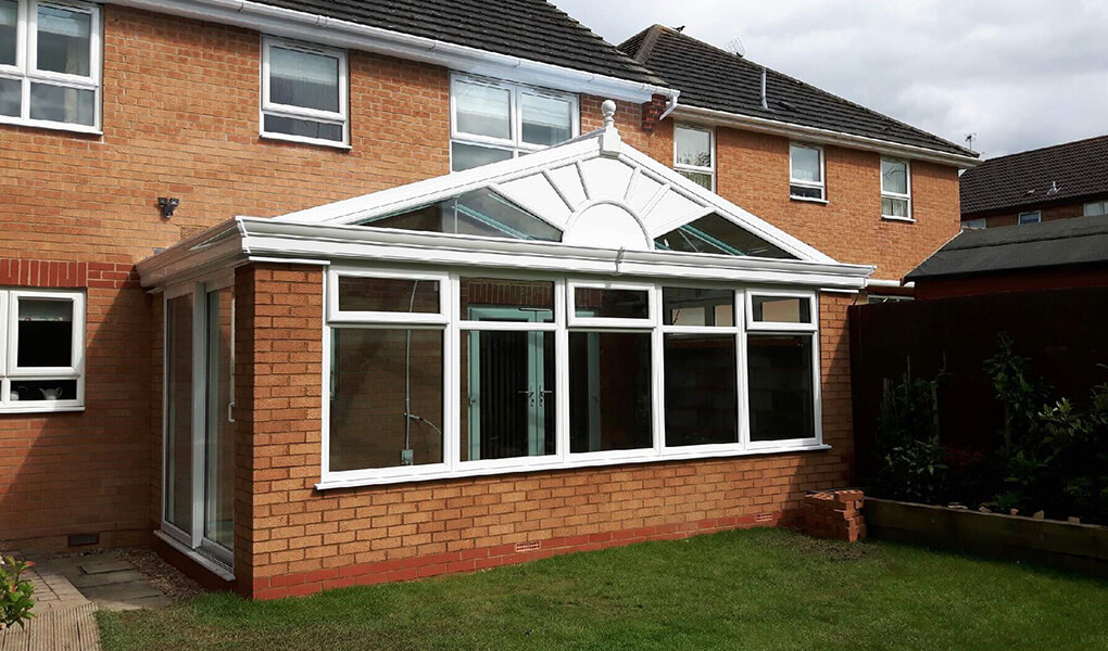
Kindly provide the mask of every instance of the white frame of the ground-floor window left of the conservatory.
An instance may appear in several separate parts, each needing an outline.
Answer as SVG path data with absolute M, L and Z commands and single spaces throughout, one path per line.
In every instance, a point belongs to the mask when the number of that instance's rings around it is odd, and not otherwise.
M 70 366 L 18 366 L 19 301 L 22 299 L 66 300 L 73 304 Z M 47 289 L 0 289 L 0 414 L 51 413 L 84 410 L 85 296 L 83 291 Z M 76 395 L 69 400 L 12 401 L 11 381 L 75 381 Z

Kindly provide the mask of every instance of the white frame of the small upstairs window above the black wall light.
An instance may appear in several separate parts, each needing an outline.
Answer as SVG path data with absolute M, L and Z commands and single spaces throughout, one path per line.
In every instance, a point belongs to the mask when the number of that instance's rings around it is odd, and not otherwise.
M 334 56 L 338 59 L 339 61 L 338 112 L 318 111 L 315 108 L 305 108 L 302 106 L 294 106 L 290 104 L 278 104 L 269 100 L 269 73 L 270 73 L 269 51 L 271 48 L 275 46 L 284 48 L 287 50 L 297 50 L 310 54 L 322 54 L 326 56 Z M 258 130 L 260 136 L 264 138 L 270 138 L 277 141 L 288 141 L 294 143 L 306 143 L 311 145 L 324 145 L 327 147 L 349 149 L 350 148 L 350 118 L 349 118 L 350 81 L 349 80 L 350 80 L 350 71 L 349 71 L 346 50 L 337 50 L 335 48 L 327 48 L 324 45 L 305 43 L 302 41 L 281 39 L 279 37 L 263 35 L 261 37 L 261 93 L 260 93 L 261 104 L 258 107 Z M 288 117 L 291 120 L 309 120 L 312 122 L 324 122 L 327 124 L 341 125 L 342 142 L 266 131 L 266 115 L 273 115 L 276 117 Z

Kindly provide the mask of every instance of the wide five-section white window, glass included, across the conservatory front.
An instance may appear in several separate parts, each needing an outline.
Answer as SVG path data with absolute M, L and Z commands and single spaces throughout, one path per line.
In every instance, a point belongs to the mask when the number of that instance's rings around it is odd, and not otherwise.
M 321 487 L 821 447 L 813 292 L 327 273 Z

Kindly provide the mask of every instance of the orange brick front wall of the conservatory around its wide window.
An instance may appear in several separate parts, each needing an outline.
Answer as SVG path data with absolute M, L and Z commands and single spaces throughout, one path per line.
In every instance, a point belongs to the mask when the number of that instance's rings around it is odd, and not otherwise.
M 852 459 L 847 307 L 820 296 L 831 450 L 357 488 L 320 476 L 324 271 L 236 271 L 236 589 L 252 598 L 471 571 L 567 551 L 798 523 Z

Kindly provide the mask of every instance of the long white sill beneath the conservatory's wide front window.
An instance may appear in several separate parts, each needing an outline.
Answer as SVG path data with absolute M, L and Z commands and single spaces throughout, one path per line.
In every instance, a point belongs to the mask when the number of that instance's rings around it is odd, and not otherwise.
M 483 466 L 474 468 L 461 468 L 455 471 L 441 471 L 434 473 L 423 473 L 418 475 L 392 475 L 380 477 L 359 477 L 350 479 L 322 479 L 316 484 L 317 490 L 329 490 L 332 488 L 353 488 L 358 486 L 383 486 L 388 484 L 411 484 L 418 482 L 432 482 L 442 479 L 461 479 L 465 477 L 482 477 L 489 475 L 509 475 L 516 473 L 536 473 L 543 471 L 572 471 L 575 468 L 602 467 L 614 465 L 638 465 L 657 462 L 673 461 L 700 461 L 722 457 L 760 456 L 767 454 L 793 454 L 801 452 L 820 452 L 831 450 L 830 445 L 813 443 L 809 445 L 787 445 L 777 447 L 757 447 L 753 450 L 690 450 L 688 452 L 676 448 L 676 452 L 655 454 L 648 451 L 644 455 L 622 455 L 611 457 L 592 457 L 574 459 L 568 463 L 526 463 L 520 465 Z M 522 457 L 526 459 L 527 457 Z M 541 458 L 541 457 L 537 457 Z

